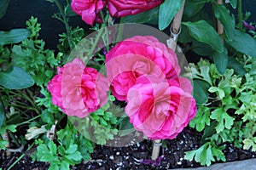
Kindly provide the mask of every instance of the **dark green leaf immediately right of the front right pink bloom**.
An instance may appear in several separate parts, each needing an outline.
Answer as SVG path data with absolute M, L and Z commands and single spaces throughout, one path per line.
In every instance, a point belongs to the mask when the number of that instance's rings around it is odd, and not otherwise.
M 206 81 L 195 79 L 193 80 L 193 96 L 196 104 L 205 104 L 208 100 L 208 88 L 210 85 Z

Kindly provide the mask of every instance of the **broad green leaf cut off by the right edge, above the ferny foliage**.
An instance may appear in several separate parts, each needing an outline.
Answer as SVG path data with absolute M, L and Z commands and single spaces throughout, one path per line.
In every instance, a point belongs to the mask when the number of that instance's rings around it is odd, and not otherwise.
M 247 33 L 235 30 L 233 41 L 227 41 L 232 48 L 242 54 L 256 57 L 256 40 Z

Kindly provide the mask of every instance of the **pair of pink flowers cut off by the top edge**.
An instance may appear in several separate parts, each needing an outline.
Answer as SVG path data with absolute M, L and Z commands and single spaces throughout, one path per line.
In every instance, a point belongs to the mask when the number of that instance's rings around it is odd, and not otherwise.
M 159 6 L 164 0 L 72 0 L 73 12 L 82 16 L 85 23 L 92 26 L 94 22 L 102 22 L 100 11 L 108 4 L 109 14 L 123 17 L 138 14 Z

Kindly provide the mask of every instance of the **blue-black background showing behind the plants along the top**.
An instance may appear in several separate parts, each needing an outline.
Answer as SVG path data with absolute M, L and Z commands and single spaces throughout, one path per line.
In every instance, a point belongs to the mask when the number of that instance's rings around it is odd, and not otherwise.
M 243 0 L 242 9 L 243 12 L 250 11 L 252 15 L 249 21 L 256 23 L 256 1 Z M 58 12 L 55 3 L 49 3 L 46 0 L 11 0 L 6 14 L 0 20 L 0 30 L 9 31 L 14 28 L 25 28 L 26 20 L 33 15 L 41 23 L 40 37 L 46 42 L 46 48 L 55 49 L 58 44 L 58 35 L 66 31 L 61 21 L 51 17 Z M 237 14 L 236 10 L 232 12 Z M 84 24 L 80 16 L 71 17 L 70 25 L 88 29 L 88 26 Z

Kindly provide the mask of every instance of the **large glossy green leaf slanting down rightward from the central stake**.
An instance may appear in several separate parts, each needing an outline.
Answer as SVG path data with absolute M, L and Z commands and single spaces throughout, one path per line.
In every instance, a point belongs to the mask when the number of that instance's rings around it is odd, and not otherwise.
M 222 53 L 224 51 L 224 45 L 221 38 L 214 28 L 205 20 L 199 20 L 196 22 L 183 22 L 184 26 L 189 28 L 189 34 L 199 42 L 205 42 L 213 49 Z

